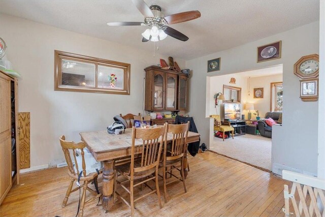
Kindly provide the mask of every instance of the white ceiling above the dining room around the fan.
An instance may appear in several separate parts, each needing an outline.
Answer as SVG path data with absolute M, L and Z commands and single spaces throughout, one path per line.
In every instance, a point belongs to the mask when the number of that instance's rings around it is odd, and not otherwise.
M 193 59 L 285 32 L 319 19 L 319 1 L 145 1 L 165 15 L 199 10 L 201 18 L 171 27 L 185 34 L 182 42 L 167 37 L 158 53 Z M 108 26 L 107 22 L 143 21 L 131 1 L 0 1 L 0 13 L 123 43 L 153 52 L 141 42 L 145 26 Z

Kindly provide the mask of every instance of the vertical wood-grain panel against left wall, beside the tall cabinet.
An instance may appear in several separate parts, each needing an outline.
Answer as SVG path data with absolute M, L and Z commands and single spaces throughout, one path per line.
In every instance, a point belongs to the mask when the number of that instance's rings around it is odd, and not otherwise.
M 19 165 L 21 169 L 30 167 L 30 113 L 18 113 Z

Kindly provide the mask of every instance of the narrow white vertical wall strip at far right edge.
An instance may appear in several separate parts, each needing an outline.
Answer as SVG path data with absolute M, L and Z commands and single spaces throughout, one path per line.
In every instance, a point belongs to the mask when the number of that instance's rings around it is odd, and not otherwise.
M 325 1 L 320 1 L 319 66 L 318 177 L 325 179 Z

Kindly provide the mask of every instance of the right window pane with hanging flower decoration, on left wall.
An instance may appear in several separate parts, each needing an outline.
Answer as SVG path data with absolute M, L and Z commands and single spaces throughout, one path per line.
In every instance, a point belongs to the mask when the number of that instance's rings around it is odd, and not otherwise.
M 124 70 L 108 66 L 98 66 L 98 88 L 123 89 Z

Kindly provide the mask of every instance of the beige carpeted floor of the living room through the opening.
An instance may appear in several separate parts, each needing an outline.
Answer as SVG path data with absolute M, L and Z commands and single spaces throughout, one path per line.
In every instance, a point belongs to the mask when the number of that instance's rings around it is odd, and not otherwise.
M 271 146 L 269 138 L 245 134 L 224 141 L 214 137 L 210 150 L 271 171 Z

